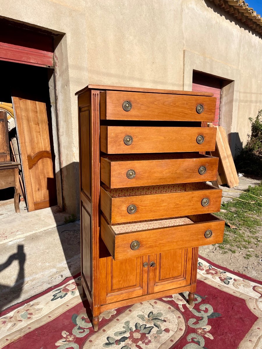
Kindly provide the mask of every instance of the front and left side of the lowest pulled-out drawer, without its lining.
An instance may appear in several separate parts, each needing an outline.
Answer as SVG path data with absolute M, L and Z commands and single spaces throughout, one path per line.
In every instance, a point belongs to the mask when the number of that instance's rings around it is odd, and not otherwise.
M 210 221 L 118 234 L 110 233 L 110 225 L 101 216 L 101 237 L 115 260 L 223 242 L 225 222 L 205 216 Z M 131 248 L 134 242 L 139 243 L 136 250 Z

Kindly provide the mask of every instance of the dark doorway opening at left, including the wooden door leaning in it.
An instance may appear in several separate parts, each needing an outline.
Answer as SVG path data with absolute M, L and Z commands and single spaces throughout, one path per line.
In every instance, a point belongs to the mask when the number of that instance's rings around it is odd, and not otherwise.
M 8 160 L 21 164 L 19 192 L 23 206 L 33 211 L 57 205 L 49 96 L 52 69 L 8 61 L 0 61 L 0 69 L 0 110 L 7 119 L 6 149 L 10 153 L 6 165 Z M 14 190 L 1 189 L 0 204 L 14 198 Z

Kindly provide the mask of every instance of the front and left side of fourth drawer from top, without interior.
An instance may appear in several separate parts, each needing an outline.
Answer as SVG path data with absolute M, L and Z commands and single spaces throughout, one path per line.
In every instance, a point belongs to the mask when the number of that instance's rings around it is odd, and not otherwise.
M 219 212 L 221 189 L 110 198 L 101 188 L 101 210 L 109 223 Z M 133 209 L 130 209 L 133 208 Z

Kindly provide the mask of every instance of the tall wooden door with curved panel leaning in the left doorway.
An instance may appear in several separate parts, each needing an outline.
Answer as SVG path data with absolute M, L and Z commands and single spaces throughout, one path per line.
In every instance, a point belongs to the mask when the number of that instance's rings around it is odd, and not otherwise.
M 13 97 L 29 211 L 57 204 L 56 179 L 44 102 Z

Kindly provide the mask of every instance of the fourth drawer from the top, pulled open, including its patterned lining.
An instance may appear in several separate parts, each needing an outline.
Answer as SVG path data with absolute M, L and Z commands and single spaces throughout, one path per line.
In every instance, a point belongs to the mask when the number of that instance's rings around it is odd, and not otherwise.
M 101 210 L 110 224 L 220 211 L 222 190 L 206 183 L 100 188 Z

